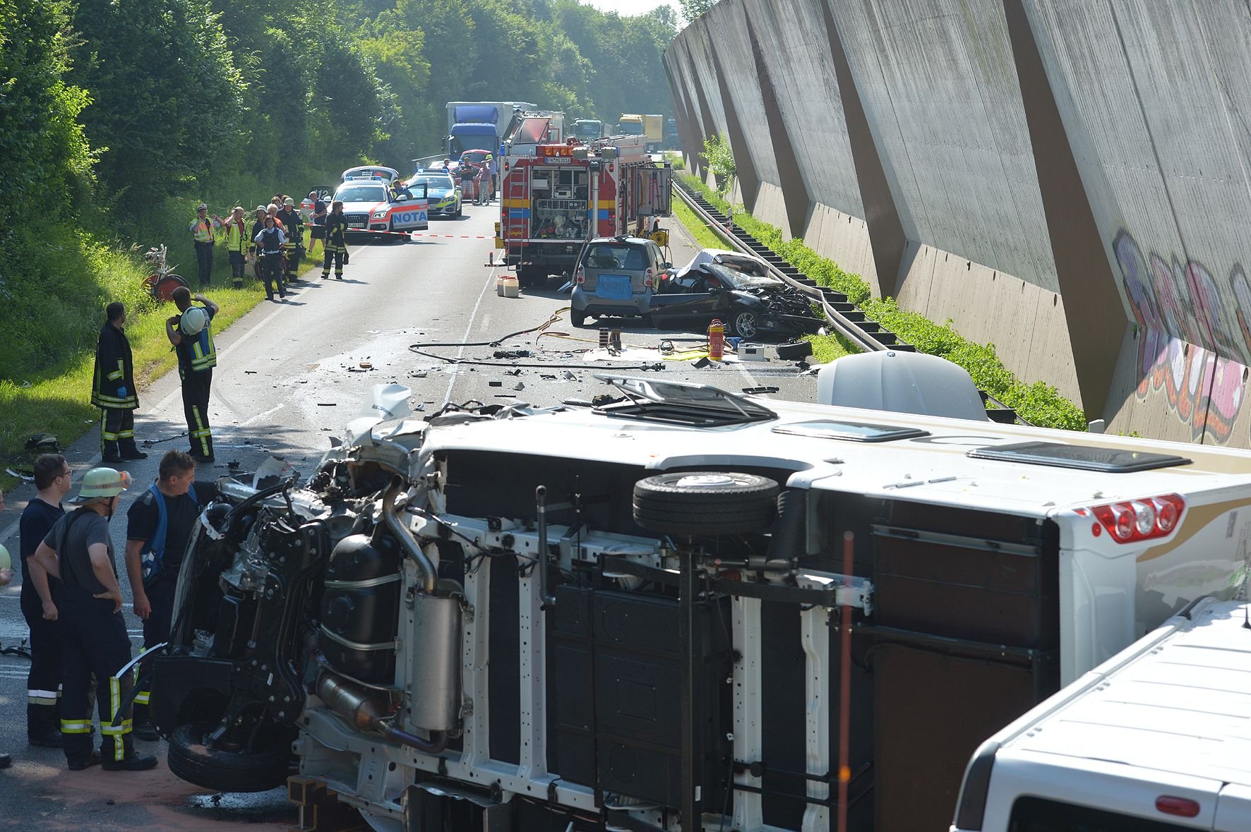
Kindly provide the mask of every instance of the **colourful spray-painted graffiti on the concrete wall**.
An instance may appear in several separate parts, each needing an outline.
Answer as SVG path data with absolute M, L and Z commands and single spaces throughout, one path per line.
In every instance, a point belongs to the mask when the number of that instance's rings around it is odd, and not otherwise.
M 1163 395 L 1193 440 L 1207 434 L 1228 442 L 1242 405 L 1246 367 L 1198 344 L 1243 360 L 1251 353 L 1251 284 L 1242 266 L 1230 273 L 1230 292 L 1237 299 L 1231 315 L 1201 263 L 1145 254 L 1127 231 L 1116 235 L 1112 250 L 1138 324 L 1138 400 Z

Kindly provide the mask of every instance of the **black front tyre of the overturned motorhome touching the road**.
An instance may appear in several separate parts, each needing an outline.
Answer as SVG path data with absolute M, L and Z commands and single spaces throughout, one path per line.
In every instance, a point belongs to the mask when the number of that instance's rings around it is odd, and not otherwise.
M 166 762 L 180 778 L 215 792 L 268 792 L 286 783 L 290 742 L 259 752 L 220 751 L 204 744 L 213 729 L 206 722 L 184 723 L 169 737 Z

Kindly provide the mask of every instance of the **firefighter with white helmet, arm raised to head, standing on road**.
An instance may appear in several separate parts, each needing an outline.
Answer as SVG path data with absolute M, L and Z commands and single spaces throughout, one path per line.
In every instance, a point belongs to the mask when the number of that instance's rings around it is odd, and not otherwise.
M 203 294 L 193 298 L 186 287 L 174 289 L 173 298 L 180 314 L 165 320 L 165 337 L 178 352 L 178 375 L 183 379 L 186 435 L 191 443 L 191 457 L 196 462 L 211 463 L 209 390 L 213 387 L 213 368 L 218 365 L 218 350 L 213 345 L 213 317 L 218 314 L 218 304 Z M 193 300 L 204 305 L 193 307 Z

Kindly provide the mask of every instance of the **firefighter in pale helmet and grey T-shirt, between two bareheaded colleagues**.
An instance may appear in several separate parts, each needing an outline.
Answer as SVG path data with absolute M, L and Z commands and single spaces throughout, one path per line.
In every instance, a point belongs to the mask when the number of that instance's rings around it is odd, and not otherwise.
M 130 637 L 121 617 L 109 520 L 129 483 L 129 474 L 113 468 L 86 472 L 78 495 L 68 500 L 76 510 L 56 520 L 29 561 L 31 572 L 44 578 L 35 579 L 44 618 L 61 622 L 61 737 L 71 771 L 100 762 L 106 771 L 156 766 L 154 756 L 135 753 L 130 707 L 123 707 L 133 679 L 130 672 L 121 672 L 130 662 Z M 48 593 L 46 576 L 61 581 L 55 601 Z M 91 748 L 93 674 L 103 736 L 99 753 Z

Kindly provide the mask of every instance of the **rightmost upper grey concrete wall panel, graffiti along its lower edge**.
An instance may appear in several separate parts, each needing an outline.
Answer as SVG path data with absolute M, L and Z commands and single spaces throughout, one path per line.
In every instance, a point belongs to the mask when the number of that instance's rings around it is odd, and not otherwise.
M 1141 325 L 1251 362 L 1246 4 L 1026 4 L 1108 261 Z

